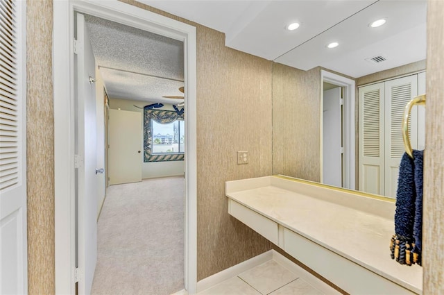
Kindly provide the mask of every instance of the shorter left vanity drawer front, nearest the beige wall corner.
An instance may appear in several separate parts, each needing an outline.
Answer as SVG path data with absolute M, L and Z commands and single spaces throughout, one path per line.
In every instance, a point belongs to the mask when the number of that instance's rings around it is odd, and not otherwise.
M 255 232 L 259 233 L 273 244 L 278 244 L 278 224 L 275 221 L 246 208 L 246 206 L 241 205 L 232 199 L 230 199 L 228 203 L 228 212 L 232 217 L 235 217 L 243 224 L 246 224 L 246 226 L 252 228 Z

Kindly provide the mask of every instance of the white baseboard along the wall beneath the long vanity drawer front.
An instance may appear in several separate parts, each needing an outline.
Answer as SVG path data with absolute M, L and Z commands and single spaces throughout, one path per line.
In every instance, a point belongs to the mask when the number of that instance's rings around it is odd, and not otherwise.
M 324 283 L 322 280 L 319 280 L 318 278 L 316 278 L 316 276 L 313 276 L 311 273 L 309 273 L 305 269 L 302 269 L 302 267 L 300 267 L 298 264 L 292 262 L 291 260 L 286 258 L 281 253 L 279 253 L 275 250 L 271 250 L 271 251 L 273 251 L 273 260 L 275 260 L 275 262 L 278 262 L 280 265 L 282 265 L 282 267 L 285 267 L 286 269 L 288 269 L 292 273 L 296 274 L 298 277 L 305 280 L 312 287 L 318 289 L 323 294 L 326 294 L 326 295 L 341 294 L 341 292 L 336 291 L 336 289 L 333 289 L 332 287 L 330 287 L 329 285 Z

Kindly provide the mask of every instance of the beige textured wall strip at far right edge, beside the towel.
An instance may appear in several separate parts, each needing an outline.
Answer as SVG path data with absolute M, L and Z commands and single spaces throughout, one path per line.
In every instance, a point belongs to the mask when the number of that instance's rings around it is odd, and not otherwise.
M 444 294 L 444 1 L 427 3 L 423 294 Z

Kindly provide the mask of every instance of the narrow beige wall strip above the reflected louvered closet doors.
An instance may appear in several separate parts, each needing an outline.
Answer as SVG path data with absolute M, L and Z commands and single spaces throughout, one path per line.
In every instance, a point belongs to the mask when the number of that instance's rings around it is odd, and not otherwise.
M 360 86 L 368 83 L 375 83 L 377 81 L 382 81 L 397 76 L 416 73 L 417 71 L 424 71 L 425 63 L 425 60 L 420 60 L 418 62 L 409 63 L 408 65 L 402 65 L 401 67 L 386 69 L 385 71 L 378 71 L 374 74 L 362 76 L 356 79 L 356 85 Z

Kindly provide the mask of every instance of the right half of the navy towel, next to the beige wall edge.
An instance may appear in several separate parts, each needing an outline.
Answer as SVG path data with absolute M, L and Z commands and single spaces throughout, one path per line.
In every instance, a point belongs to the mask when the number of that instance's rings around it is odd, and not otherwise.
M 423 180 L 423 154 L 424 151 L 413 151 L 413 163 L 415 167 L 415 187 L 416 187 L 416 200 L 415 200 L 415 222 L 413 224 L 413 239 L 415 241 L 415 247 L 413 253 L 418 253 L 418 264 L 421 264 L 421 248 L 422 248 L 422 180 Z

